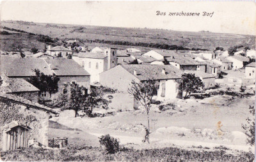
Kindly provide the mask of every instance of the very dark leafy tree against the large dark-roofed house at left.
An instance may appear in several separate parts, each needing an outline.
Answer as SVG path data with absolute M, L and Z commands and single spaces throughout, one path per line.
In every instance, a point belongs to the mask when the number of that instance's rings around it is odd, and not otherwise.
M 35 69 L 34 71 L 36 75 L 28 78 L 29 83 L 40 89 L 40 91 L 49 92 L 50 97 L 52 93 L 58 92 L 58 82 L 60 81 L 59 77 L 54 73 L 52 75 L 45 75 L 38 69 Z

